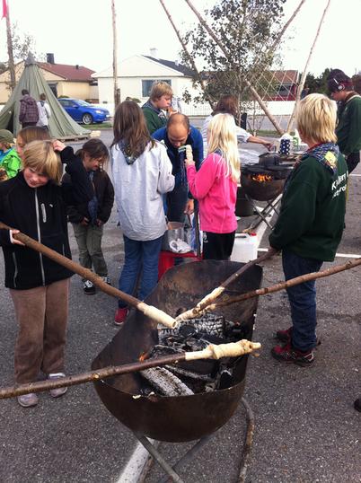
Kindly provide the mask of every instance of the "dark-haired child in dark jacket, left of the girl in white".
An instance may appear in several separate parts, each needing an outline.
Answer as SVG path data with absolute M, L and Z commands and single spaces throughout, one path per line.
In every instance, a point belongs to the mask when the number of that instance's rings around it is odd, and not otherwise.
M 114 203 L 114 189 L 110 178 L 102 167 L 107 162 L 107 146 L 100 139 L 90 139 L 76 154 L 83 161 L 94 187 L 94 195 L 88 203 L 68 206 L 67 215 L 73 224 L 79 248 L 79 261 L 82 267 L 92 268 L 104 282 L 110 284 L 108 268 L 101 251 L 103 224 L 109 220 Z M 69 181 L 68 174 L 64 180 Z M 95 294 L 95 285 L 90 280 L 83 281 L 84 294 Z

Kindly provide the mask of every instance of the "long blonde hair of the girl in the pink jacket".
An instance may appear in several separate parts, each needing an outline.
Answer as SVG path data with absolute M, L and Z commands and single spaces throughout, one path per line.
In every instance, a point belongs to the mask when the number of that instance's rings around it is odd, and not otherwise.
M 208 125 L 207 133 L 209 134 L 208 153 L 220 150 L 227 168 L 226 176 L 231 176 L 233 181 L 238 181 L 241 162 L 233 116 L 216 114 Z

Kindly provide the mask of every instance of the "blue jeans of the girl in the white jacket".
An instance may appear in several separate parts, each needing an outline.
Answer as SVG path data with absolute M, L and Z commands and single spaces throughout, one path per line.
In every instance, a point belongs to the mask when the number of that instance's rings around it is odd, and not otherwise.
M 123 235 L 123 239 L 125 260 L 119 278 L 119 290 L 129 295 L 133 294 L 142 270 L 138 298 L 144 300 L 158 282 L 158 262 L 163 235 L 149 242 L 131 240 L 126 235 Z M 126 303 L 119 301 L 119 308 L 126 306 Z

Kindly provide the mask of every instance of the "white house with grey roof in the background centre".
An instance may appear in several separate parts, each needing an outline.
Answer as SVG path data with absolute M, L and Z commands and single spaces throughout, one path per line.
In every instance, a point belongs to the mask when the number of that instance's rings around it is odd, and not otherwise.
M 172 85 L 172 91 L 177 97 L 182 97 L 188 90 L 192 97 L 198 95 L 193 87 L 191 71 L 177 61 L 157 58 L 156 49 L 151 49 L 152 56 L 136 55 L 121 61 L 118 66 L 118 86 L 121 100 L 127 97 L 147 101 L 154 81 L 165 81 Z M 109 68 L 92 74 L 98 80 L 99 102 L 105 104 L 110 112 L 114 106 L 113 69 Z M 183 103 L 183 112 L 188 114 L 192 109 Z

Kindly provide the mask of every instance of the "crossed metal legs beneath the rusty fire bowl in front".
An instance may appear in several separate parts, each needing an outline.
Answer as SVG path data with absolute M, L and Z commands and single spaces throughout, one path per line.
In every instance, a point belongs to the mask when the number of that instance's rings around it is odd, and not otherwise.
M 153 456 L 154 460 L 157 461 L 158 464 L 163 468 L 163 470 L 168 474 L 167 477 L 160 479 L 159 483 L 166 483 L 168 481 L 169 477 L 171 477 L 173 479 L 173 481 L 175 481 L 176 483 L 184 483 L 183 480 L 181 479 L 181 477 L 179 476 L 179 474 L 176 472 L 176 470 L 180 470 L 180 468 L 182 466 L 184 466 L 185 464 L 192 461 L 195 458 L 195 456 L 197 455 L 197 453 L 203 448 L 203 446 L 214 435 L 215 435 L 215 433 L 199 439 L 198 442 L 195 443 L 190 448 L 190 450 L 188 452 L 186 452 L 181 457 L 181 459 L 178 460 L 173 466 L 171 466 L 169 463 L 167 463 L 167 461 L 164 460 L 163 456 L 160 454 L 160 452 L 158 452 L 158 450 L 156 448 L 154 448 L 154 445 L 152 443 L 150 443 L 148 438 L 146 438 L 145 436 L 142 436 L 142 435 L 136 435 L 136 438 L 138 439 L 138 441 L 140 443 L 143 444 L 146 451 L 149 452 Z

